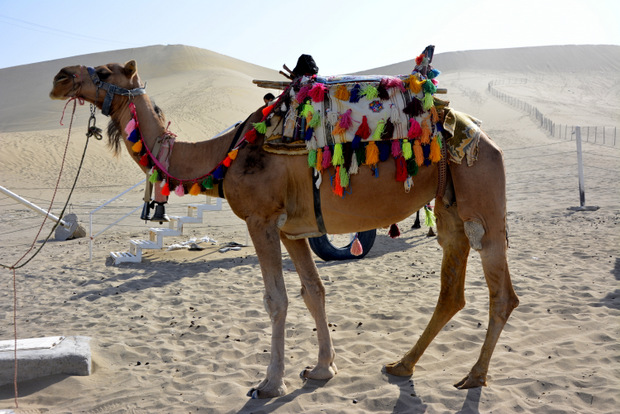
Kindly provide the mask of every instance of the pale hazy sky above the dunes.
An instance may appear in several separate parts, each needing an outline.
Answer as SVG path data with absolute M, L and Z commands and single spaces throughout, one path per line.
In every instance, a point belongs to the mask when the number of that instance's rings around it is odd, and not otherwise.
M 185 44 L 273 69 L 308 53 L 334 75 L 409 60 L 428 44 L 620 45 L 620 1 L 0 0 L 0 44 L 0 68 Z

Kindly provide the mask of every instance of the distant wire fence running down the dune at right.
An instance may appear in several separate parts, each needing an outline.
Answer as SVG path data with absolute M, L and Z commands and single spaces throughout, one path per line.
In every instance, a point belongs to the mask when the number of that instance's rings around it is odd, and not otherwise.
M 498 90 L 496 85 L 519 85 L 526 84 L 528 82 L 525 78 L 510 78 L 510 79 L 498 79 L 492 80 L 488 85 L 488 92 L 507 103 L 508 105 L 525 112 L 530 116 L 532 121 L 540 126 L 543 130 L 547 131 L 549 135 L 554 138 L 572 140 L 575 136 L 575 128 L 581 127 L 581 139 L 594 143 L 615 147 L 618 143 L 618 129 L 615 126 L 581 126 L 581 125 L 567 125 L 558 124 L 551 118 L 545 116 L 537 107 L 525 102 L 522 99 L 511 96 L 505 92 Z

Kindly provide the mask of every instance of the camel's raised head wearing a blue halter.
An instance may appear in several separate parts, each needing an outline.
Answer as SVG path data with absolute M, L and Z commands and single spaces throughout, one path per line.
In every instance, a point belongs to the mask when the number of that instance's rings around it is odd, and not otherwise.
M 135 60 L 130 60 L 124 65 L 110 63 L 95 68 L 86 66 L 62 68 L 54 77 L 50 98 L 63 100 L 82 98 L 102 108 L 107 95 L 110 95 L 111 101 L 114 94 L 128 96 L 127 93 L 132 92 L 134 95 L 144 93 Z

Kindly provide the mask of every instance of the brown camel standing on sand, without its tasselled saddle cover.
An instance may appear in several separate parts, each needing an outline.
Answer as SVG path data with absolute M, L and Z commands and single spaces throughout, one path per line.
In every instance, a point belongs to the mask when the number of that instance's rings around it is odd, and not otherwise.
M 116 86 L 116 90 L 110 85 Z M 50 97 L 81 98 L 103 108 L 104 114 L 109 113 L 111 122 L 117 125 L 129 153 L 139 163 L 139 156 L 132 150 L 132 143 L 125 139 L 127 133 L 122 128 L 134 116 L 132 109 L 135 108 L 146 147 L 152 148 L 166 133 L 164 120 L 141 88 L 135 61 L 94 69 L 69 66 L 54 78 Z M 108 102 L 104 102 L 106 97 Z M 245 136 L 252 129 L 252 122 L 261 121 L 263 108 L 250 115 L 249 122 L 216 139 L 177 142 L 169 159 L 170 175 L 189 180 L 213 171 L 230 154 L 233 140 Z M 234 213 L 245 220 L 260 262 L 265 284 L 264 304 L 272 322 L 271 361 L 266 378 L 248 393 L 254 398 L 286 393 L 283 375 L 288 297 L 280 242 L 295 264 L 301 279 L 302 297 L 316 322 L 318 363 L 304 370 L 302 377 L 327 380 L 337 373 L 325 312 L 325 288 L 305 238 L 319 233 L 313 204 L 313 170 L 308 168 L 304 156 L 265 152 L 260 145 L 262 139 L 259 136 L 253 143 L 246 142 L 247 145 L 238 149 L 222 182 L 209 189 L 201 188 L 202 193 L 211 196 L 223 195 Z M 147 167 L 141 165 L 141 168 L 146 171 Z M 370 167 L 360 165 L 359 173 L 351 175 L 353 191 L 346 197 L 335 195 L 330 188 L 328 174 L 333 173 L 333 167 L 323 171 L 326 179 L 320 186 L 320 203 L 327 232 L 351 233 L 389 226 L 409 217 L 436 194 L 439 178 L 436 164 L 420 167 L 414 177 L 415 187 L 409 192 L 403 190 L 402 182 L 394 179 L 397 168 L 394 162 L 380 162 L 378 168 L 381 174 L 375 177 Z M 465 268 L 471 246 L 481 256 L 490 293 L 490 315 L 477 362 L 469 374 L 455 384 L 464 389 L 486 385 L 491 354 L 518 298 L 506 260 L 505 176 L 501 150 L 482 133 L 478 160 L 470 166 L 449 163 L 448 175 L 453 201 L 435 203 L 438 242 L 443 248 L 437 306 L 413 348 L 399 361 L 387 364 L 385 369 L 392 375 L 412 375 L 415 364 L 433 338 L 465 306 Z

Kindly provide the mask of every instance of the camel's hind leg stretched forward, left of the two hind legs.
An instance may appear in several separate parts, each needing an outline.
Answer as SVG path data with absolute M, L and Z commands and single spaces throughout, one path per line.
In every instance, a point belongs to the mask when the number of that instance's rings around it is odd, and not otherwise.
M 458 216 L 456 206 L 446 208 L 438 204 L 435 207 L 435 214 L 437 215 L 437 238 L 443 248 L 441 292 L 433 316 L 414 347 L 400 361 L 385 366 L 386 372 L 392 375 L 411 375 L 415 364 L 431 341 L 465 306 L 464 284 L 469 242 L 465 235 L 463 221 Z

